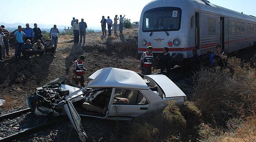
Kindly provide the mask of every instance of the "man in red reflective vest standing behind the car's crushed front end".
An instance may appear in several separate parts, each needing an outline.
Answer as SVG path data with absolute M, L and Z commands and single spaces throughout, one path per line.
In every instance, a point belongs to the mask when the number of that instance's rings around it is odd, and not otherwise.
M 73 63 L 73 73 L 74 73 L 74 77 L 73 77 L 73 81 L 75 82 L 76 85 L 78 85 L 78 83 L 80 82 L 80 86 L 81 87 L 85 87 L 85 78 L 84 78 L 84 74 L 85 74 L 85 68 L 84 68 L 84 64 L 83 64 L 83 60 L 85 60 L 85 56 L 81 55 L 74 63 Z

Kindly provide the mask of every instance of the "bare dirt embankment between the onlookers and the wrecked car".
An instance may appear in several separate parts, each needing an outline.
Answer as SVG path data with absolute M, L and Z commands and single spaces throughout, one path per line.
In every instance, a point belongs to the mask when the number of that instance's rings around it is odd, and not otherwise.
M 84 55 L 85 78 L 105 67 L 117 67 L 137 71 L 138 30 L 124 30 L 124 35 L 102 36 L 101 32 L 88 33 L 85 45 L 74 45 L 73 37 L 59 37 L 56 58 L 50 54 L 30 59 L 14 60 L 14 45 L 11 58 L 0 63 L 0 99 L 5 99 L 4 109 L 26 105 L 26 96 L 48 81 L 67 75 L 72 78 L 72 63 Z M 12 42 L 12 41 L 11 41 Z

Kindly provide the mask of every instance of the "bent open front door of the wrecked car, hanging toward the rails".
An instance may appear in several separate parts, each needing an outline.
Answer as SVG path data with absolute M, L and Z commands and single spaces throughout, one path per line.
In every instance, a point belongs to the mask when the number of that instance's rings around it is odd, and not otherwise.
M 79 117 L 78 113 L 76 112 L 74 105 L 72 104 L 71 101 L 66 100 L 66 104 L 64 105 L 64 108 L 67 112 L 67 116 L 69 118 L 69 120 L 71 121 L 74 129 L 76 130 L 76 132 L 78 133 L 78 136 L 80 138 L 80 140 L 82 142 L 85 142 L 87 137 L 87 134 L 85 133 L 85 131 L 82 128 L 81 125 L 81 118 Z

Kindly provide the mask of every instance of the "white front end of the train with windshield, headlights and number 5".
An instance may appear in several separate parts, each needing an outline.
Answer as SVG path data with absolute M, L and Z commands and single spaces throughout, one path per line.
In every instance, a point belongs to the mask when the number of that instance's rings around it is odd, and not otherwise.
M 177 65 L 193 57 L 195 9 L 198 6 L 190 0 L 155 0 L 148 3 L 143 8 L 139 23 L 137 59 L 150 45 L 154 56 L 162 55 L 163 47 L 168 47 L 172 61 Z

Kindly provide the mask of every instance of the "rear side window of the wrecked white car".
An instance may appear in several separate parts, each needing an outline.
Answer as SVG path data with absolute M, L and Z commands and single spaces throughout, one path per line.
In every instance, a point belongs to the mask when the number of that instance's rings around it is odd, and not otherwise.
M 146 105 L 148 101 L 139 90 L 115 89 L 113 104 Z

